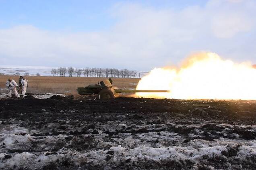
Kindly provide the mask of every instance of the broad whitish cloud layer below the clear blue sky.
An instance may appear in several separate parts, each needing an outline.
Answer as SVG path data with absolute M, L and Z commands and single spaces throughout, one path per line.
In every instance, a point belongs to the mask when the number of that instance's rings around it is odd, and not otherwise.
M 2 65 L 25 62 L 150 70 L 179 63 L 196 51 L 213 51 L 235 60 L 253 59 L 254 48 L 237 47 L 255 39 L 255 3 L 230 4 L 211 0 L 206 6 L 177 11 L 119 3 L 109 13 L 118 22 L 106 31 L 53 32 L 32 25 L 0 29 Z

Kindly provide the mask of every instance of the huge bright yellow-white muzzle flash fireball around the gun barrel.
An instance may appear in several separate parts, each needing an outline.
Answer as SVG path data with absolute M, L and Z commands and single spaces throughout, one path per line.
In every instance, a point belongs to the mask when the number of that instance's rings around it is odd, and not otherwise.
M 223 60 L 215 53 L 190 57 L 180 69 L 155 68 L 136 89 L 170 93 L 136 93 L 140 97 L 175 99 L 256 99 L 256 69 L 251 63 Z

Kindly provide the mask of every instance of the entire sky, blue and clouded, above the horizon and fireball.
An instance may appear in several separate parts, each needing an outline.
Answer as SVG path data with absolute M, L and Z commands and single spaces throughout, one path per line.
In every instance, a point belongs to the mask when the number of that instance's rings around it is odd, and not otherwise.
M 255 0 L 0 0 L 1 65 L 148 71 L 200 51 L 256 63 L 255 11 Z

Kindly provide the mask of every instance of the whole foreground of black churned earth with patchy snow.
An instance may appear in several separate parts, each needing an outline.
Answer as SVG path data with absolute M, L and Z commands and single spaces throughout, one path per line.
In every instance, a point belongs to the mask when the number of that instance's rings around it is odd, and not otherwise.
M 2 169 L 254 169 L 256 101 L 0 100 Z

